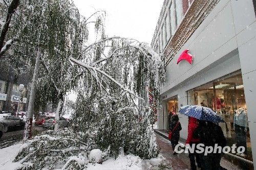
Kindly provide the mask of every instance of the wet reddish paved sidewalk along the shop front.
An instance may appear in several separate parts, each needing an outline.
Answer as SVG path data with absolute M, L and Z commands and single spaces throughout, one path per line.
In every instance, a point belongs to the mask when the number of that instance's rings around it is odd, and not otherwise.
M 161 132 L 155 129 L 155 134 L 157 137 L 157 143 L 160 147 L 160 154 L 173 166 L 174 170 L 182 170 L 182 169 L 190 169 L 190 161 L 188 158 L 188 154 L 181 153 L 178 155 L 173 155 L 172 145 L 170 141 L 167 139 L 168 134 L 165 132 Z M 180 143 L 183 143 L 183 141 L 179 141 Z M 231 158 L 226 159 L 226 157 L 222 157 L 221 159 L 221 166 L 228 169 L 228 170 L 240 170 L 240 169 L 253 169 L 252 167 L 244 167 L 244 162 L 237 162 L 236 159 Z M 200 169 L 200 168 L 199 168 Z

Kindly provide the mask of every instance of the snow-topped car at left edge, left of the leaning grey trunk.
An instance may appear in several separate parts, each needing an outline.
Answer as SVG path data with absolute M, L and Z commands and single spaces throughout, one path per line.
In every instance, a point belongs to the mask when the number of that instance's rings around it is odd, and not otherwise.
M 23 119 L 16 116 L 5 116 L 0 120 L 0 123 L 4 125 L 4 132 L 7 132 L 11 127 L 24 128 L 26 124 Z

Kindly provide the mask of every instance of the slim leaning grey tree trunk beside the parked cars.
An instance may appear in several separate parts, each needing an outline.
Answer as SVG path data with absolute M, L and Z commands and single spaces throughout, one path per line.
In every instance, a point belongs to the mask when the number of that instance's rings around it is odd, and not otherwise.
M 32 85 L 30 89 L 27 122 L 25 126 L 25 131 L 24 131 L 24 140 L 28 140 L 32 136 L 32 120 L 33 120 L 33 110 L 34 110 L 34 103 L 35 103 L 35 82 L 38 74 L 39 60 L 40 60 L 40 51 L 38 50 L 37 56 L 36 56 L 33 79 L 32 79 Z

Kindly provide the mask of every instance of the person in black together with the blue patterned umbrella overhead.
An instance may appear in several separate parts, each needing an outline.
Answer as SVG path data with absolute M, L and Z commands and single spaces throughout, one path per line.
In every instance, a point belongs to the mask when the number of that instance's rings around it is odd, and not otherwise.
M 179 112 L 181 114 L 198 119 L 198 127 L 194 130 L 193 137 L 199 138 L 200 143 L 206 147 L 215 147 L 215 144 L 222 148 L 226 145 L 226 139 L 219 125 L 215 123 L 224 120 L 214 111 L 203 106 L 184 106 Z M 222 153 L 202 153 L 200 155 L 202 169 L 221 169 L 220 160 Z

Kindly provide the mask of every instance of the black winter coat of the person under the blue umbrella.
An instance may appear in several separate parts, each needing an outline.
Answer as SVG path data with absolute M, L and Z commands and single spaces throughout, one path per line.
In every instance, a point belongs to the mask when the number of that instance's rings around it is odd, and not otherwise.
M 198 122 L 199 125 L 193 133 L 194 138 L 199 138 L 200 143 L 203 143 L 205 147 L 214 147 L 216 143 L 221 147 L 226 146 L 226 138 L 219 125 L 202 120 L 199 120 Z

